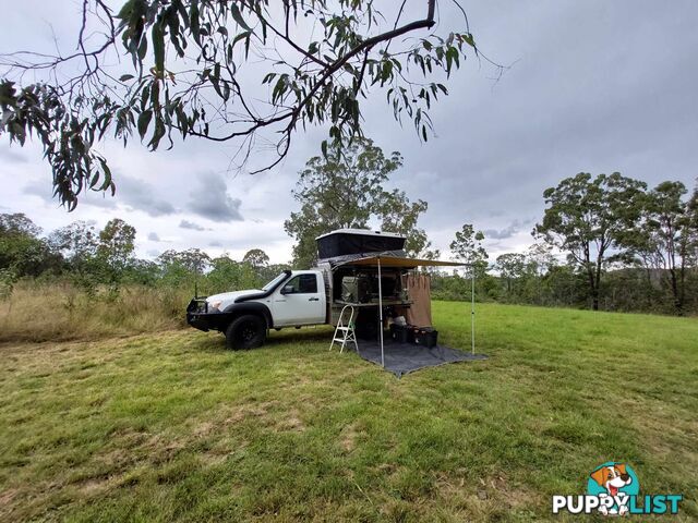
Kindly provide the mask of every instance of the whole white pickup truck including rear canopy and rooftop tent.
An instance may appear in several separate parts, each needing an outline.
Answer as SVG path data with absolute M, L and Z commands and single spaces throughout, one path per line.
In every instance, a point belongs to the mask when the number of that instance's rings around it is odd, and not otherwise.
M 194 297 L 186 321 L 225 333 L 229 349 L 253 349 L 264 343 L 269 329 L 337 325 L 342 307 L 351 304 L 357 336 L 375 339 L 383 312 L 399 316 L 412 304 L 404 277 L 418 266 L 444 265 L 407 258 L 406 239 L 399 234 L 340 229 L 316 240 L 315 268 L 285 270 L 262 289 Z

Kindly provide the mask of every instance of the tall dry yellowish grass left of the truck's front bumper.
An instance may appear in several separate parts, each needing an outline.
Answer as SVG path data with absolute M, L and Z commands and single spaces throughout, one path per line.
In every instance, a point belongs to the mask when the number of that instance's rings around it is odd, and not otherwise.
M 131 285 L 87 293 L 23 281 L 0 301 L 0 342 L 97 340 L 182 328 L 191 290 Z

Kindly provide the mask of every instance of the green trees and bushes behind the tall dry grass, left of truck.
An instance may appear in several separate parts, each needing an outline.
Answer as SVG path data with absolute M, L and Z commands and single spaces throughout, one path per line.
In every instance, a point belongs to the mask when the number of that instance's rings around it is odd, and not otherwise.
M 136 230 L 115 218 L 104 229 L 76 221 L 41 235 L 25 215 L 0 215 L 0 296 L 17 282 L 69 283 L 92 299 L 116 300 L 129 285 L 183 289 L 194 293 L 258 288 L 287 266 L 270 265 L 264 251 L 241 260 L 212 258 L 198 248 L 165 251 L 155 260 L 134 256 Z M 182 309 L 178 312 L 182 314 Z

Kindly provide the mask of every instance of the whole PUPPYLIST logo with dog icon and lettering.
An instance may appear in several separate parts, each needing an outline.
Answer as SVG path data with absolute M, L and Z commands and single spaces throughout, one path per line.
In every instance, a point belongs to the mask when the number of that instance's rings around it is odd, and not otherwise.
M 553 514 L 676 514 L 678 494 L 640 496 L 640 482 L 627 463 L 609 461 L 594 469 L 585 496 L 553 496 Z

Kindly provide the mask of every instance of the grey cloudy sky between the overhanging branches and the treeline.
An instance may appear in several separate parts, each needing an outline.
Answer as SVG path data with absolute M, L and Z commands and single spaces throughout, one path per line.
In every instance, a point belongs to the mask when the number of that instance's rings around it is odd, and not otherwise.
M 621 171 L 657 184 L 698 175 L 698 2 L 510 0 L 461 2 L 488 56 L 470 60 L 432 110 L 436 136 L 420 144 L 375 92 L 366 133 L 399 150 L 394 183 L 429 202 L 420 224 L 444 252 L 456 230 L 485 231 L 491 258 L 521 251 L 543 210 L 543 191 L 579 171 Z M 412 0 L 414 8 L 423 2 Z M 76 0 L 0 0 L 0 51 L 74 47 Z M 416 12 L 420 12 L 418 9 Z M 442 24 L 455 20 L 441 0 Z M 48 47 L 47 47 L 48 46 Z M 296 136 L 288 158 L 250 177 L 230 169 L 232 144 L 188 141 L 148 153 L 137 143 L 104 146 L 117 196 L 91 194 L 68 214 L 51 198 L 40 148 L 0 137 L 0 212 L 25 212 L 46 232 L 74 220 L 99 226 L 121 217 L 137 230 L 137 251 L 200 247 L 241 257 L 252 247 L 290 259 L 282 222 L 296 209 L 298 171 L 318 154 L 323 130 Z

